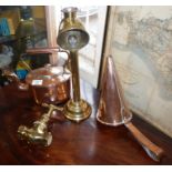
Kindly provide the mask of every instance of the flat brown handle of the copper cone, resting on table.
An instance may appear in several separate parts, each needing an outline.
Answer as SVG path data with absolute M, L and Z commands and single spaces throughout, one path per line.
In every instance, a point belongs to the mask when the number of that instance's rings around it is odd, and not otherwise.
M 125 123 L 125 127 L 130 130 L 133 136 L 139 141 L 139 143 L 143 146 L 148 155 L 154 161 L 160 161 L 163 150 L 152 143 L 145 135 L 143 135 L 139 129 L 136 129 L 132 122 Z

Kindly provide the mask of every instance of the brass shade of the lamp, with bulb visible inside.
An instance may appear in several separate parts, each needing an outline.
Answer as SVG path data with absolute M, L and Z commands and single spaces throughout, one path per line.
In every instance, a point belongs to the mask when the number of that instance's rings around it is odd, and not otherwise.
M 89 42 L 89 34 L 77 19 L 77 8 L 65 8 L 62 12 L 64 19 L 60 23 L 58 44 L 70 51 L 83 48 Z

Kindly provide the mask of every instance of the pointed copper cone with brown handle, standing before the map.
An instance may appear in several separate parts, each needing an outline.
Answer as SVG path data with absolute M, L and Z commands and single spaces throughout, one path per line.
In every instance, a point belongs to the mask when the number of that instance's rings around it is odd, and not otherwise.
M 136 129 L 132 123 L 132 112 L 129 110 L 122 87 L 115 70 L 112 57 L 107 59 L 102 92 L 97 112 L 97 120 L 105 125 L 118 127 L 124 124 L 128 130 L 133 134 L 136 141 L 141 144 L 146 154 L 154 161 L 160 161 L 163 150 L 151 142 L 143 133 Z M 108 105 L 110 102 L 114 102 Z

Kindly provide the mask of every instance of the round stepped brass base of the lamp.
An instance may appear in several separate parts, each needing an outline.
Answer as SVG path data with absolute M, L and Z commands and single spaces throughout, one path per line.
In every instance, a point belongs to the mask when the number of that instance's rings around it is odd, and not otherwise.
M 85 120 L 90 117 L 91 112 L 91 105 L 82 99 L 79 102 L 69 100 L 64 105 L 64 115 L 71 121 L 80 122 Z

